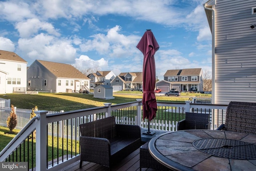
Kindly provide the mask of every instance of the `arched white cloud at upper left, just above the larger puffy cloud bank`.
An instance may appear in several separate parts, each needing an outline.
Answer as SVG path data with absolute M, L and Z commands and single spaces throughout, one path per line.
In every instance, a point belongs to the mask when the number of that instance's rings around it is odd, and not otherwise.
M 37 34 L 39 31 L 46 31 L 48 34 L 60 36 L 52 24 L 48 22 L 41 22 L 38 20 L 38 18 L 32 18 L 24 22 L 18 22 L 15 28 L 20 33 L 21 38 L 28 38 L 34 34 Z

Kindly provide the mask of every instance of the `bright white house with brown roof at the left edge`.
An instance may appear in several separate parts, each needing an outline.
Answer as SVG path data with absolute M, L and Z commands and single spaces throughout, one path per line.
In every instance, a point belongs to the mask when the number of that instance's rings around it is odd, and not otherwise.
M 26 93 L 27 64 L 16 53 L 0 50 L 0 94 Z

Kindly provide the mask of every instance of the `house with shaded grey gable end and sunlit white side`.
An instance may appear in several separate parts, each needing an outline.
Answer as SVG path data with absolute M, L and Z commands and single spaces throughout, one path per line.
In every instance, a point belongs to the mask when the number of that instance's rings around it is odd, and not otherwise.
M 27 70 L 28 90 L 50 93 L 89 90 L 90 79 L 70 64 L 35 60 Z

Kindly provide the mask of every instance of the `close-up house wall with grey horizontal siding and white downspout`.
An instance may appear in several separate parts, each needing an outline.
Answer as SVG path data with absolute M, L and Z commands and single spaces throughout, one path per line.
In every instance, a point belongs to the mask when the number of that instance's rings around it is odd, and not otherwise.
M 209 0 L 204 9 L 212 32 L 213 103 L 255 102 L 255 0 Z

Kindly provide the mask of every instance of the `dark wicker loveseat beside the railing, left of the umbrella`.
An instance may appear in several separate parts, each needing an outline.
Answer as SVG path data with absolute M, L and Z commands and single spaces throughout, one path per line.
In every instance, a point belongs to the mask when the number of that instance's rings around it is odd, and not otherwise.
M 82 161 L 110 167 L 141 145 L 138 125 L 116 124 L 113 116 L 80 126 L 80 168 Z

